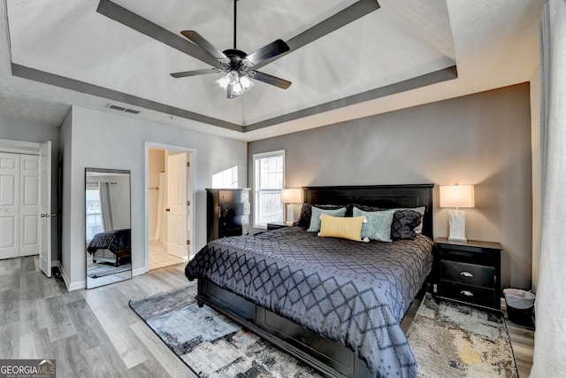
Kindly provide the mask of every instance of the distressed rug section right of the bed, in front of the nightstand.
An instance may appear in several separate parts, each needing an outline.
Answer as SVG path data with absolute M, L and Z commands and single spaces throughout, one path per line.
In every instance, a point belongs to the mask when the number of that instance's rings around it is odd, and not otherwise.
M 417 377 L 518 377 L 501 313 L 424 296 L 407 330 Z

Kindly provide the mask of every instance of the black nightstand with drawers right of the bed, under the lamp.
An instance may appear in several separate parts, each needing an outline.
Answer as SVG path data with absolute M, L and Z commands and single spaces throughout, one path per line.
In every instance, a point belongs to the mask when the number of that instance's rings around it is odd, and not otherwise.
M 436 297 L 501 311 L 501 244 L 435 240 Z

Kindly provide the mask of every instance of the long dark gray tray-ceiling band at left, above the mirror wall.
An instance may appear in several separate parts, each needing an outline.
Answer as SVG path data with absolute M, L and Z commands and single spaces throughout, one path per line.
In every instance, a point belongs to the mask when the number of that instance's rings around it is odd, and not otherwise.
M 208 117 L 203 114 L 189 112 L 174 106 L 157 103 L 142 97 L 128 95 L 117 90 L 103 88 L 97 85 L 89 84 L 88 82 L 69 79 L 55 73 L 46 73 L 44 71 L 36 70 L 27 66 L 20 66 L 16 63 L 11 63 L 11 74 L 20 78 L 39 81 L 44 84 L 55 85 L 64 89 L 71 89 L 77 92 L 86 93 L 88 95 L 99 96 L 109 100 L 118 101 L 120 103 L 132 104 L 137 107 L 146 108 L 156 112 L 164 112 L 177 117 L 186 118 L 188 120 L 195 120 L 203 122 L 212 126 L 224 127 L 234 131 L 243 132 L 244 127 L 225 120 L 218 120 L 216 118 Z

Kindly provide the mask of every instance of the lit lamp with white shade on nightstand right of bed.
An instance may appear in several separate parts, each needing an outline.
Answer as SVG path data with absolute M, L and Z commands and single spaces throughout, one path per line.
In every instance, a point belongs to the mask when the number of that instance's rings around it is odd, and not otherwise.
M 440 186 L 440 207 L 455 207 L 450 210 L 450 236 L 448 240 L 466 243 L 466 212 L 461 207 L 474 207 L 473 185 Z

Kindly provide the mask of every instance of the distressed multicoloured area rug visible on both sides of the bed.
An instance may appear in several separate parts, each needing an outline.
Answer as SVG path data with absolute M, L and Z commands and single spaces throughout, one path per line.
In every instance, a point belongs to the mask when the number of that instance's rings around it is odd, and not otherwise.
M 201 378 L 321 377 L 206 305 L 196 285 L 174 289 L 130 307 Z M 518 377 L 502 316 L 424 296 L 407 331 L 421 378 Z

